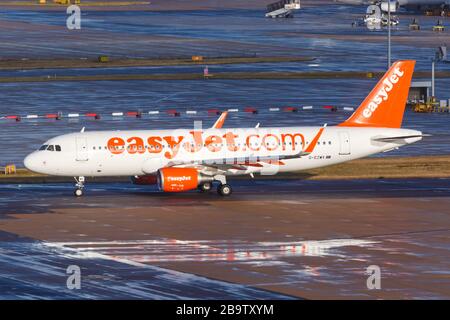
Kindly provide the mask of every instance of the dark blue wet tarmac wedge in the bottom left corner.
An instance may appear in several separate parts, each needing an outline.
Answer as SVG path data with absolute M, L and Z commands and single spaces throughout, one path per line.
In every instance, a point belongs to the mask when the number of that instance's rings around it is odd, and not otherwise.
M 293 299 L 99 253 L 0 233 L 0 299 Z M 80 289 L 67 268 L 81 269 Z

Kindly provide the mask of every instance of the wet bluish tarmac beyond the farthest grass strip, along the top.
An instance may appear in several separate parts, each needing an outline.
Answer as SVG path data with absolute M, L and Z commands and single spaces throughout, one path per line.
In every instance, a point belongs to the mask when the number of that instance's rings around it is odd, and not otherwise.
M 0 48 L 3 57 L 13 58 L 303 54 L 318 57 L 324 70 L 385 65 L 385 30 L 351 26 L 365 14 L 365 8 L 330 3 L 305 7 L 293 19 L 267 19 L 264 13 L 264 6 L 245 10 L 87 11 L 82 15 L 81 30 L 68 32 L 64 10 L 3 9 L 0 18 L 11 32 L 3 35 Z M 408 28 L 414 17 L 422 25 L 420 32 Z M 419 67 L 427 65 L 433 53 L 430 49 L 448 41 L 446 33 L 431 31 L 437 19 L 448 23 L 448 18 L 402 15 L 394 30 L 393 56 L 417 59 Z M 15 37 L 15 33 L 20 36 Z

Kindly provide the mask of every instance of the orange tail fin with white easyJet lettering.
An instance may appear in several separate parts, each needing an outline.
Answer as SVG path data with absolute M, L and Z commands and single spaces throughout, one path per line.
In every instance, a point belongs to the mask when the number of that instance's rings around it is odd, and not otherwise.
M 395 62 L 358 109 L 339 126 L 400 128 L 415 64 L 413 60 Z

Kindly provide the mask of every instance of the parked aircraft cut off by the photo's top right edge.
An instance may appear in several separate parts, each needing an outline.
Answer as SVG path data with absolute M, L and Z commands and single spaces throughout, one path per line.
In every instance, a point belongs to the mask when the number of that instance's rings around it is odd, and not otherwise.
M 335 0 L 350 5 L 379 5 L 381 10 L 388 12 L 389 0 Z M 425 9 L 448 9 L 450 7 L 450 0 L 391 0 L 390 10 L 396 12 L 400 7 L 412 10 L 425 10 Z

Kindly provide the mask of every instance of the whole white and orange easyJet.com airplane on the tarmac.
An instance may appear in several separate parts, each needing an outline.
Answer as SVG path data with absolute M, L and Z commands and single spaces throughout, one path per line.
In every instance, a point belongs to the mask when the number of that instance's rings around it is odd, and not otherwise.
M 358 109 L 337 126 L 92 131 L 50 139 L 28 155 L 31 171 L 75 177 L 131 176 L 166 192 L 212 189 L 231 194 L 227 176 L 275 174 L 329 166 L 396 149 L 422 139 L 401 129 L 415 61 L 397 61 Z

